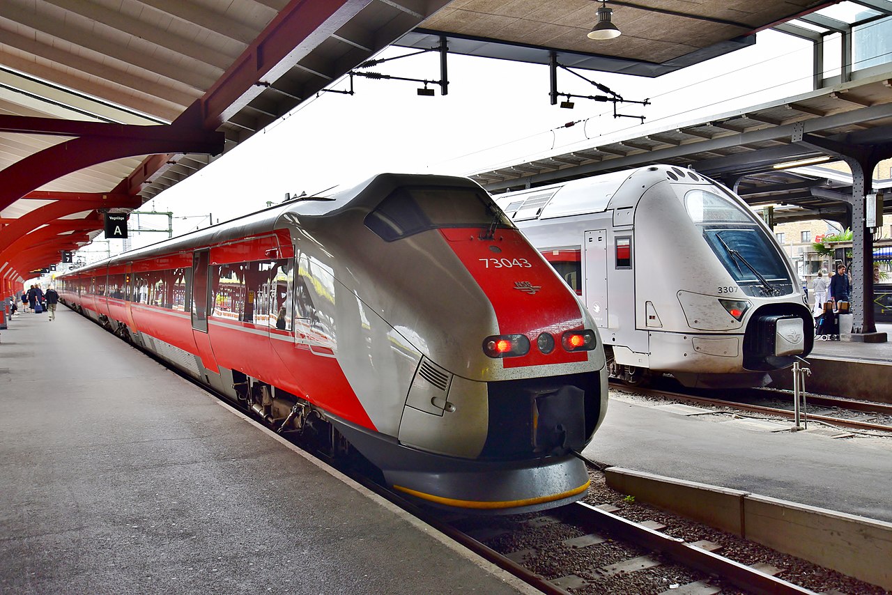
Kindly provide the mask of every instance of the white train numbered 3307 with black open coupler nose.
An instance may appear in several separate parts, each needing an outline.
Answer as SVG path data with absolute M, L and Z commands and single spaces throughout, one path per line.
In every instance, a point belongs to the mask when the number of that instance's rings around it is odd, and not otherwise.
M 495 196 L 595 318 L 610 375 L 760 386 L 814 342 L 772 231 L 731 190 L 666 165 Z

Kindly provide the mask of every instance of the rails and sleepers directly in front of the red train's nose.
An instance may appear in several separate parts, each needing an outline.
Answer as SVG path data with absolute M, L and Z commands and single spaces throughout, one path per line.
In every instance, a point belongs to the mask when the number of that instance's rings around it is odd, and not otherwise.
M 705 543 L 690 544 L 615 515 L 609 505 L 576 502 L 537 516 L 494 523 L 467 517 L 450 526 L 475 541 L 472 550 L 484 550 L 498 566 L 549 593 L 814 592 L 715 554 Z

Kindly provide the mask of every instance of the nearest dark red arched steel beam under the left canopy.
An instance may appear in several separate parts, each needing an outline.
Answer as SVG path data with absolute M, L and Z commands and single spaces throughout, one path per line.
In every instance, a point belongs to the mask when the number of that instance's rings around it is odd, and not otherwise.
M 133 126 L 0 116 L 0 131 L 71 136 L 0 171 L 0 210 L 57 178 L 96 163 L 153 153 L 223 152 L 222 132 L 185 126 Z

